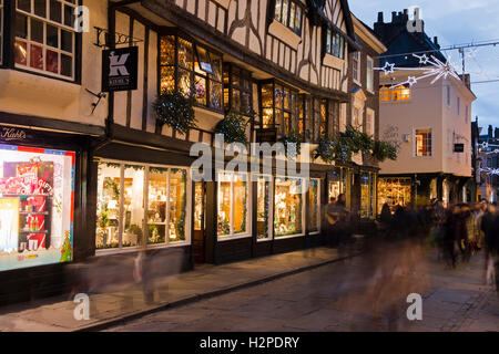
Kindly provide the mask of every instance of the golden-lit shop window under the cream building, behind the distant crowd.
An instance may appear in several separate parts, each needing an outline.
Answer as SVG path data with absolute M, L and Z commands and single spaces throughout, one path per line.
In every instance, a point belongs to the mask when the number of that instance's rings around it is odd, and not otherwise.
M 378 179 L 378 215 L 385 202 L 394 212 L 397 206 L 406 207 L 410 204 L 410 178 L 379 178 Z

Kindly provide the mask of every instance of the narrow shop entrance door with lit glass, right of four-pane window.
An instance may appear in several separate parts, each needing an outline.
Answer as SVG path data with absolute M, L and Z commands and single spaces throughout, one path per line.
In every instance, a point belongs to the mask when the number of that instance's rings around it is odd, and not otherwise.
M 194 263 L 205 262 L 205 215 L 206 215 L 206 192 L 205 184 L 196 181 L 194 185 Z

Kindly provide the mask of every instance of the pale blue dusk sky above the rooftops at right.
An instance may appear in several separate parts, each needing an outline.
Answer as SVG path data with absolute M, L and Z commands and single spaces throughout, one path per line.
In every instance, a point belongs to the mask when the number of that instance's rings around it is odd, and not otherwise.
M 499 41 L 499 1 L 496 0 L 350 0 L 352 12 L 373 28 L 379 11 L 384 12 L 385 22 L 391 21 L 391 11 L 403 11 L 411 6 L 421 9 L 425 32 L 431 39 L 438 37 L 442 48 L 481 41 Z M 499 45 L 483 46 L 467 51 L 467 72 L 471 83 L 499 80 Z M 461 73 L 461 60 L 458 51 L 447 51 L 458 73 Z M 478 115 L 479 126 L 486 131 L 489 124 L 499 127 L 499 100 L 497 91 L 499 81 L 476 83 L 471 90 L 477 95 L 471 116 Z

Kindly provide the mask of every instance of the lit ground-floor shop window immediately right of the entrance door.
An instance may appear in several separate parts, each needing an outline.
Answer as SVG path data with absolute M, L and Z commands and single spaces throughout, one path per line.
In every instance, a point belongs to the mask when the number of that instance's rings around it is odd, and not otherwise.
M 218 174 L 218 236 L 248 232 L 248 201 L 247 175 Z

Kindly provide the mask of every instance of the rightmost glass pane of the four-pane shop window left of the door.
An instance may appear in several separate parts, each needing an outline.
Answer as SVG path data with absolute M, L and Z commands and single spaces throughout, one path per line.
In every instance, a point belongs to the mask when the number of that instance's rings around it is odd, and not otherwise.
M 170 242 L 185 241 L 187 211 L 187 171 L 170 170 Z

